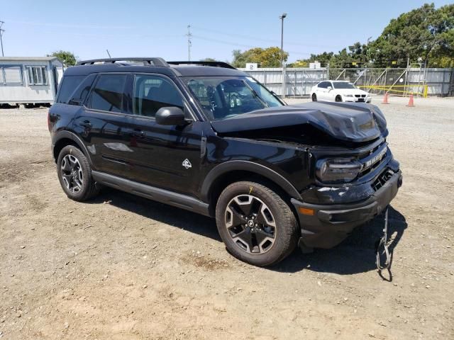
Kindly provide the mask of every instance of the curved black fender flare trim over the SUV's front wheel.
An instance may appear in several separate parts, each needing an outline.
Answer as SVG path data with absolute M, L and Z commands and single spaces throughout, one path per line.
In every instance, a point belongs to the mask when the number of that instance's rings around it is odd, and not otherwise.
M 277 186 L 282 188 L 291 198 L 301 200 L 301 195 L 297 189 L 287 181 L 282 175 L 278 174 L 276 171 L 264 166 L 262 164 L 250 162 L 250 161 L 228 161 L 211 169 L 206 175 L 204 183 L 201 186 L 201 200 L 204 202 L 209 201 L 209 194 L 212 188 L 213 183 L 222 176 L 230 171 L 249 171 L 255 174 L 259 174 L 266 179 L 269 179 L 273 183 L 276 183 Z

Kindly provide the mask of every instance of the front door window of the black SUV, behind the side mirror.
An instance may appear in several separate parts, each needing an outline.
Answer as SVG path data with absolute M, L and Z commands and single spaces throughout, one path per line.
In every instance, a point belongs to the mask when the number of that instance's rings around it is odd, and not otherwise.
M 134 114 L 155 117 L 160 108 L 183 109 L 182 95 L 171 81 L 158 76 L 137 75 L 134 81 Z

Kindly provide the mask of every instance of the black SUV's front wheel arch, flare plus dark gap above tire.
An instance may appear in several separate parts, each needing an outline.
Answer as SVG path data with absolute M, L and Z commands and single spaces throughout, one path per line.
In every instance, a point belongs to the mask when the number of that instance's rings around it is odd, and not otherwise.
M 301 199 L 292 183 L 267 166 L 249 161 L 229 161 L 211 169 L 201 186 L 201 200 L 209 203 L 209 210 L 214 212 L 217 198 L 223 189 L 244 179 L 262 179 L 276 186 L 290 198 Z

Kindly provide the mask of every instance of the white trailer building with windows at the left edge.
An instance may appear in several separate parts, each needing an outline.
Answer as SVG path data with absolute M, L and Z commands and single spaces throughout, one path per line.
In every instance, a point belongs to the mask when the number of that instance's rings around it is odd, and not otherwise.
M 63 71 L 57 57 L 0 57 L 0 106 L 52 104 Z

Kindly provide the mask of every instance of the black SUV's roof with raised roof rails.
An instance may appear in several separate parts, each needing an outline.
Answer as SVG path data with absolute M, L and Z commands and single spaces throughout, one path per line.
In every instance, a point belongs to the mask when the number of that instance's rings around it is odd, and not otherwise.
M 158 57 L 124 57 L 85 60 L 68 67 L 65 75 L 88 75 L 99 72 L 160 73 L 168 77 L 236 76 L 248 74 L 226 62 L 166 62 Z

